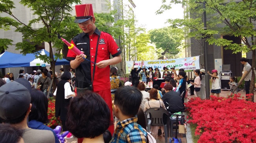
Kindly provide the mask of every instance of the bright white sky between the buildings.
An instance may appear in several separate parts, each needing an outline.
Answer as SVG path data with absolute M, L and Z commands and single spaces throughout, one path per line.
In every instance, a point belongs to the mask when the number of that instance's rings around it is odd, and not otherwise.
M 183 18 L 184 16 L 181 4 L 175 4 L 171 10 L 156 15 L 156 11 L 162 5 L 162 0 L 133 0 L 133 2 L 136 5 L 134 14 L 138 20 L 137 25 L 144 25 L 146 31 L 169 26 L 170 24 L 165 24 L 167 19 Z

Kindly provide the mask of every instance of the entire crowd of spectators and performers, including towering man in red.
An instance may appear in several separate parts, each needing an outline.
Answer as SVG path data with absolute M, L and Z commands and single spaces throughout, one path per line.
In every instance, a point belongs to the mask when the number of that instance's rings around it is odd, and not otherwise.
M 63 132 L 70 132 L 67 137 L 74 135 L 78 143 L 152 143 L 154 138 L 146 131 L 143 111 L 160 107 L 171 113 L 182 112 L 188 83 L 195 87 L 198 97 L 205 98 L 204 69 L 193 71 L 195 80 L 189 81 L 183 69 L 179 69 L 177 74 L 175 67 L 171 71 L 163 67 L 161 76 L 158 68 L 154 71 L 152 67 L 146 69 L 142 61 L 139 69 L 134 67 L 135 64 L 132 67 L 132 83 L 128 81 L 124 83 L 126 86 L 121 86 L 117 68 L 110 69 L 109 66 L 122 61 L 120 48 L 110 34 L 96 28 L 92 4 L 75 5 L 75 9 L 74 22 L 83 32 L 71 43 L 82 54 L 77 55 L 72 48 L 69 49 L 67 60 L 70 68 L 65 72 L 60 69 L 58 77 L 61 80 L 54 92 L 55 116 L 60 117 Z M 241 63 L 247 65 L 244 61 Z M 76 73 L 72 69 L 76 69 Z M 49 122 L 46 94 L 50 92 L 52 74 L 56 73 L 51 69 L 30 74 L 20 70 L 18 79 L 13 73 L 0 79 L 0 143 L 60 142 L 59 135 L 45 125 Z M 73 85 L 72 79 L 76 76 L 79 78 Z M 173 79 L 165 78 L 169 76 Z M 219 96 L 217 70 L 213 70 L 210 76 L 211 94 Z M 161 77 L 165 78 L 165 85 L 160 91 L 159 85 L 152 82 Z M 236 78 L 230 81 L 234 84 Z M 147 82 L 153 87 L 149 92 L 146 91 Z M 158 135 L 161 134 L 161 128 L 158 128 Z

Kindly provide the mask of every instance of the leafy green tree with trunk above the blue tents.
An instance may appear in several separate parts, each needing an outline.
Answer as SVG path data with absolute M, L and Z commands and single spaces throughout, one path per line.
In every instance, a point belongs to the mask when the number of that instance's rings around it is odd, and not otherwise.
M 44 62 L 50 63 L 52 70 L 54 71 L 57 58 L 62 58 L 61 54 L 56 53 L 54 59 L 53 48 L 57 51 L 63 49 L 63 43 L 58 39 L 57 33 L 63 35 L 63 38 L 71 40 L 72 36 L 79 33 L 77 24 L 74 24 L 70 11 L 70 7 L 73 3 L 80 3 L 80 0 L 20 0 L 20 4 L 29 8 L 34 19 L 28 22 L 22 22 L 18 19 L 13 11 L 16 9 L 12 0 L 0 1 L 0 13 L 1 15 L 7 15 L 6 17 L 0 16 L 0 28 L 4 30 L 10 30 L 15 28 L 15 32 L 22 33 L 22 42 L 13 43 L 10 39 L 0 39 L 0 51 L 7 49 L 9 45 L 16 45 L 16 50 L 24 55 L 27 53 L 38 54 L 36 45 L 41 45 L 47 42 L 50 46 L 50 57 L 46 55 L 39 55 L 39 58 Z M 42 24 L 42 27 L 34 27 L 34 25 Z M 53 75 L 55 77 L 55 74 Z

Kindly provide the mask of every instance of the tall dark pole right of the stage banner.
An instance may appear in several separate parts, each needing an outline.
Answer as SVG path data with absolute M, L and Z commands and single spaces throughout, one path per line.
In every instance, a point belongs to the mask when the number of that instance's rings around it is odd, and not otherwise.
M 206 27 L 206 2 L 203 2 L 203 8 L 204 8 L 204 30 L 207 30 Z M 203 38 L 204 42 L 204 66 L 205 66 L 205 92 L 206 92 L 206 99 L 210 99 L 210 75 L 207 73 L 208 71 L 208 55 L 207 55 L 207 42 L 206 37 Z

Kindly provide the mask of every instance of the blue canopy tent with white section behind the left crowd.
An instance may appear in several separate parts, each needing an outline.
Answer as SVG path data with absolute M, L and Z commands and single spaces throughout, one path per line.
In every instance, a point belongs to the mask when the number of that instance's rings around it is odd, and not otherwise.
M 41 50 L 41 54 L 50 55 L 49 52 L 45 51 L 45 49 Z M 0 68 L 8 68 L 8 67 L 32 67 L 32 66 L 41 66 L 45 64 L 46 66 L 50 65 L 48 63 L 44 63 L 40 59 L 36 59 L 35 54 L 26 54 L 23 56 L 22 54 L 14 54 L 11 52 L 4 52 L 0 55 Z M 70 62 L 65 59 L 57 59 L 55 65 L 69 65 Z

